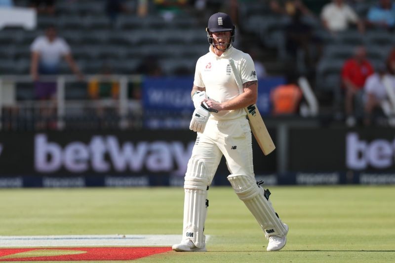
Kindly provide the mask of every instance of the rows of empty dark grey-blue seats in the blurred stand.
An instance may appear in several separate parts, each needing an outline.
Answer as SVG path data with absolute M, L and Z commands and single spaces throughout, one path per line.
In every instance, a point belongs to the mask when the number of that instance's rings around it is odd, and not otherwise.
M 14 2 L 19 6 L 29 4 L 28 0 Z M 150 3 L 147 16 L 138 17 L 134 12 L 120 14 L 112 24 L 105 13 L 104 2 L 56 1 L 56 16 L 40 14 L 36 30 L 1 30 L 0 73 L 29 74 L 30 44 L 50 25 L 55 25 L 59 35 L 70 44 L 73 56 L 85 74 L 99 73 L 104 64 L 111 65 L 114 73 L 133 74 L 149 56 L 158 59 L 166 75 L 192 74 L 197 58 L 207 52 L 204 31 L 206 22 L 202 23 L 201 18 L 193 13 L 186 11 L 169 22 L 158 15 Z M 130 2 L 136 4 L 136 1 Z M 356 1 L 353 7 L 360 16 L 364 16 L 372 2 Z M 317 21 L 319 20 L 305 18 L 305 22 L 314 28 L 315 34 L 325 43 L 324 53 L 316 68 L 316 83 L 312 83 L 316 92 L 337 92 L 341 66 L 352 55 L 356 45 L 366 45 L 368 58 L 373 65 L 385 60 L 390 48 L 395 45 L 393 33 L 368 30 L 361 36 L 354 29 L 333 37 Z M 271 71 L 271 66 L 286 64 L 284 27 L 288 22 L 288 17 L 273 14 L 267 2 L 240 1 L 240 31 L 237 34 L 243 34 L 243 38 L 245 35 L 253 35 L 258 39 L 247 42 L 247 48 L 265 47 L 276 53 L 275 61 L 265 61 L 267 71 Z M 247 49 L 245 51 L 248 52 Z M 298 61 L 303 59 L 298 58 Z M 303 68 L 299 69 L 303 71 Z M 61 72 L 71 73 L 65 63 L 61 66 Z M 23 94 L 26 90 L 22 87 L 18 94 Z M 26 94 L 18 96 L 27 98 L 29 93 Z

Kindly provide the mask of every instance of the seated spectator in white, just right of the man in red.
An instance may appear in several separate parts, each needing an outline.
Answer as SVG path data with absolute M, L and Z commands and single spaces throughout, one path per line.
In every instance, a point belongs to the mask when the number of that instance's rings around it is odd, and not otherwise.
M 391 116 L 391 104 L 388 99 L 387 90 L 383 84 L 384 76 L 387 74 L 386 66 L 384 64 L 377 67 L 377 72 L 370 75 L 366 79 L 364 93 L 365 93 L 365 117 L 364 124 L 370 126 L 372 120 L 375 119 L 377 115 Z M 392 86 L 395 91 L 395 78 L 390 77 Z

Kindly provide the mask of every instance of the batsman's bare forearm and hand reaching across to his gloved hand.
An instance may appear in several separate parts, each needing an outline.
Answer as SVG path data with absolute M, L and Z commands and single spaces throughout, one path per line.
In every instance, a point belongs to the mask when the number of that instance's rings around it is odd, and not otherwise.
M 206 104 L 212 109 L 220 110 L 235 110 L 245 108 L 256 102 L 258 97 L 258 81 L 248 81 L 243 84 L 243 93 L 225 102 L 217 102 L 211 99 L 206 99 Z

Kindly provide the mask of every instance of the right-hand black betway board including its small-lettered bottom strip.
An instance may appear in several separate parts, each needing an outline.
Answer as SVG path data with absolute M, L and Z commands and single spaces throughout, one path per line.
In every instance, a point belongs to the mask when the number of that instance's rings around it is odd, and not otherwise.
M 296 184 L 395 184 L 395 129 L 290 129 Z

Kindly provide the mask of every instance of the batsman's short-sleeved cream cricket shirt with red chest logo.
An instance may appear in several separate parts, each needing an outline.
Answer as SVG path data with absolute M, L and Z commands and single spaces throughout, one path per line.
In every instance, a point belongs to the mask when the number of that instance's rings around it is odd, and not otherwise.
M 239 95 L 235 77 L 229 60 L 233 59 L 241 82 L 258 80 L 256 77 L 254 62 L 250 55 L 231 47 L 220 57 L 215 55 L 209 48 L 209 52 L 201 56 L 196 63 L 194 85 L 206 88 L 206 94 L 210 99 L 218 102 L 229 101 Z M 233 120 L 246 113 L 243 108 L 237 110 L 221 110 L 212 112 L 210 118 L 215 120 Z

